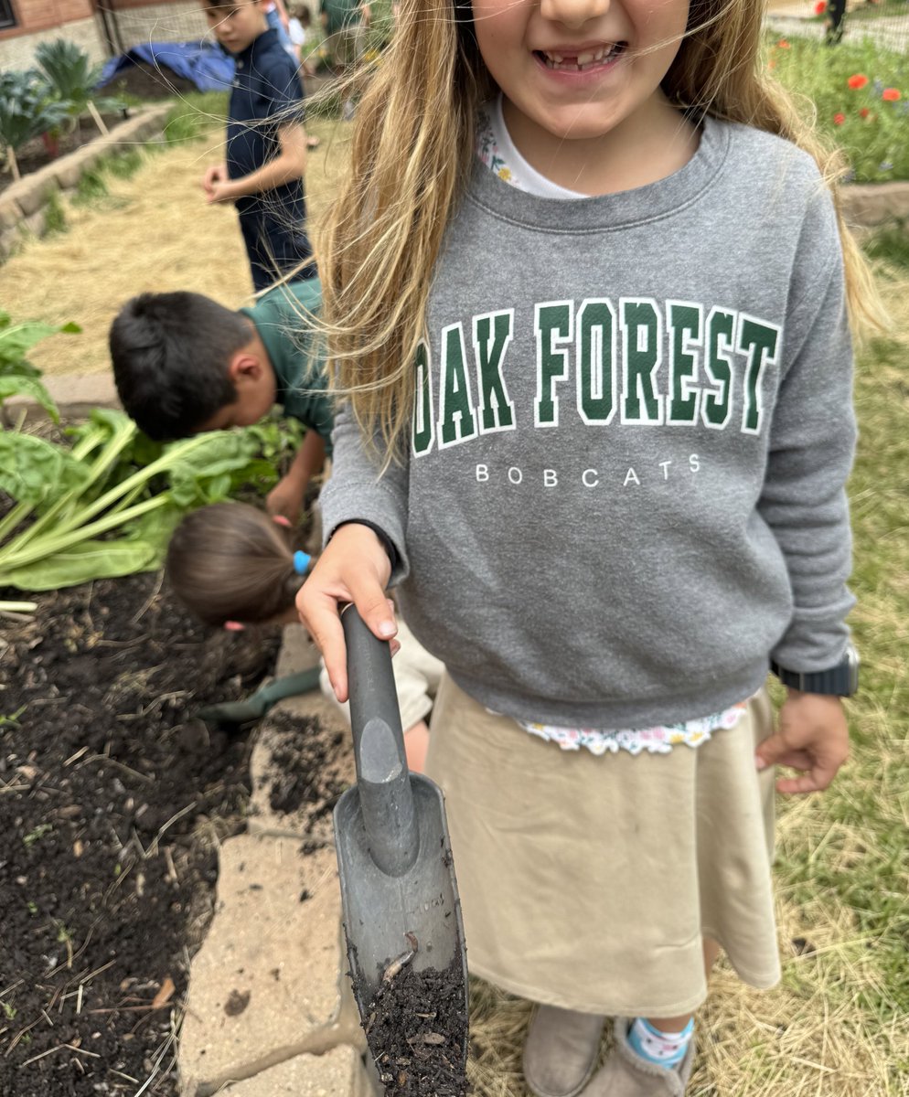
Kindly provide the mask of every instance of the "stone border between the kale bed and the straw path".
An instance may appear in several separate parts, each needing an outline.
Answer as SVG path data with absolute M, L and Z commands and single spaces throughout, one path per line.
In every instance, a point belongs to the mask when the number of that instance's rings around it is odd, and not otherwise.
M 54 195 L 74 191 L 82 174 L 103 157 L 144 145 L 164 133 L 169 105 L 152 106 L 121 122 L 105 135 L 74 152 L 33 171 L 0 194 L 0 262 L 9 258 L 22 240 L 22 229 L 43 236 L 45 208 Z

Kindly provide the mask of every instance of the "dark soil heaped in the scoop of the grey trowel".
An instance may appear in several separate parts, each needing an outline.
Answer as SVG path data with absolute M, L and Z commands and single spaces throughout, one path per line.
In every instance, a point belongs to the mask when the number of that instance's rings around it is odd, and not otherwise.
M 363 1028 L 386 1097 L 464 1097 L 463 1002 L 460 957 L 444 971 L 405 964 L 382 983 Z

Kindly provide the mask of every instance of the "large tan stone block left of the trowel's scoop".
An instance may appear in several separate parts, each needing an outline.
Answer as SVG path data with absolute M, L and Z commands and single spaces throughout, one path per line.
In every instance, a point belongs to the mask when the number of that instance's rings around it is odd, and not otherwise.
M 306 1052 L 361 1051 L 343 954 L 334 847 L 303 853 L 299 838 L 225 841 L 215 915 L 190 975 L 179 1050 L 184 1097 L 206 1097 Z

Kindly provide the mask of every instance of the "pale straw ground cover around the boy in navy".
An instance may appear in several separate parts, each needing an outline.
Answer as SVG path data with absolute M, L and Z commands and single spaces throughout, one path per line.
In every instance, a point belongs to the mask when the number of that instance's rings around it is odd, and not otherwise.
M 306 172 L 310 215 L 317 215 L 347 160 L 344 123 L 316 120 L 322 137 Z M 66 324 L 32 351 L 45 374 L 108 370 L 108 330 L 126 298 L 192 290 L 231 308 L 251 296 L 246 251 L 232 206 L 209 206 L 200 180 L 223 155 L 221 128 L 202 140 L 148 155 L 132 178 L 104 176 L 108 194 L 88 205 L 65 202 L 67 230 L 31 240 L 0 267 L 0 307 L 14 319 Z

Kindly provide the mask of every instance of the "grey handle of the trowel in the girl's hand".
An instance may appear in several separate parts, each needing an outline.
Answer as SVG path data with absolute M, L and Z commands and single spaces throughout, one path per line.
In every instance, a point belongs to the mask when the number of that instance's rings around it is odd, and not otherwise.
M 373 636 L 355 606 L 344 609 L 341 622 L 363 826 L 375 864 L 399 877 L 416 860 L 419 835 L 391 648 Z

